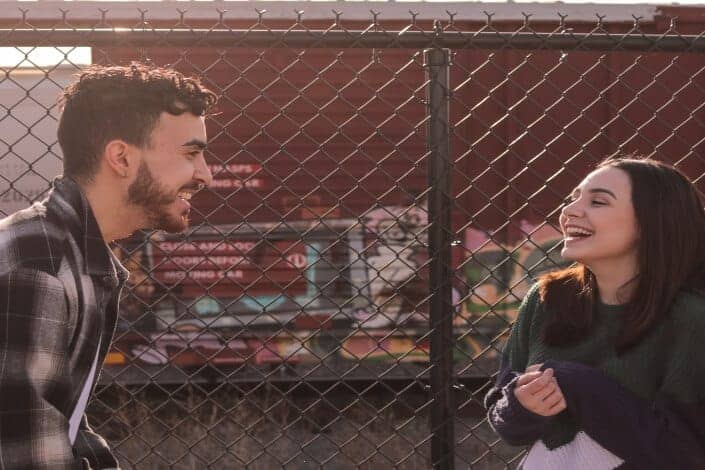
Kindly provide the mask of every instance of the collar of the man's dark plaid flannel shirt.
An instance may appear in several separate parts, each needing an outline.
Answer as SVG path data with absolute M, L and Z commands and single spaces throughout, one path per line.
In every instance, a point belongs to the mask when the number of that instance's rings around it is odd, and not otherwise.
M 59 176 L 54 179 L 53 186 L 49 201 L 58 205 L 69 230 L 79 243 L 85 260 L 85 272 L 122 285 L 129 272 L 103 239 L 93 210 L 79 185 L 69 177 Z

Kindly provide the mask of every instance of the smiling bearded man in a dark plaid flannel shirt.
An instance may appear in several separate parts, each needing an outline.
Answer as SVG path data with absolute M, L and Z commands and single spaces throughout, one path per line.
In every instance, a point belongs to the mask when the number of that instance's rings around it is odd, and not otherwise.
M 118 467 L 84 416 L 127 278 L 107 242 L 188 226 L 189 199 L 212 180 L 215 101 L 137 63 L 91 67 L 64 90 L 64 174 L 0 221 L 0 469 Z

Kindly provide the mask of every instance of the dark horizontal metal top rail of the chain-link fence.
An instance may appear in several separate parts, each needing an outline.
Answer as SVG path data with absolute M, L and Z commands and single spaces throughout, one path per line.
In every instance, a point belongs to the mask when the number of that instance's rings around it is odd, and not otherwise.
M 0 28 L 0 46 L 527 49 L 705 52 L 705 35 L 630 32 Z

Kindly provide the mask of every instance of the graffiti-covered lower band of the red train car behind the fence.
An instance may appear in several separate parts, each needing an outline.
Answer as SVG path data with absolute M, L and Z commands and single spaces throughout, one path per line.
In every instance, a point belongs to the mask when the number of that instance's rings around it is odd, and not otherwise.
M 128 297 L 141 297 L 144 305 L 168 293 L 167 300 L 153 303 L 163 331 L 118 341 L 107 362 L 180 367 L 315 363 L 323 357 L 428 362 L 427 305 L 418 300 L 427 295 L 422 268 L 427 220 L 423 207 L 380 208 L 367 214 L 359 230 L 346 231 L 342 244 L 334 243 L 339 238 L 333 232 L 302 241 L 298 230 L 279 232 L 266 243 L 252 234 L 227 241 L 212 235 L 152 239 L 151 276 L 134 255 L 125 260 L 132 271 Z M 555 228 L 528 221 L 519 228 L 524 236 L 504 243 L 486 232 L 465 231 L 459 271 L 464 282 L 453 288 L 460 360 L 486 351 L 506 329 L 533 279 L 566 265 Z M 333 254 L 334 244 L 345 249 Z M 263 276 L 264 266 L 280 272 Z M 164 274 L 197 269 L 243 274 L 227 281 Z M 326 284 L 337 287 L 326 290 Z M 346 302 L 352 292 L 362 294 Z M 129 298 L 124 302 L 130 305 Z M 503 320 L 485 315 L 490 310 Z

